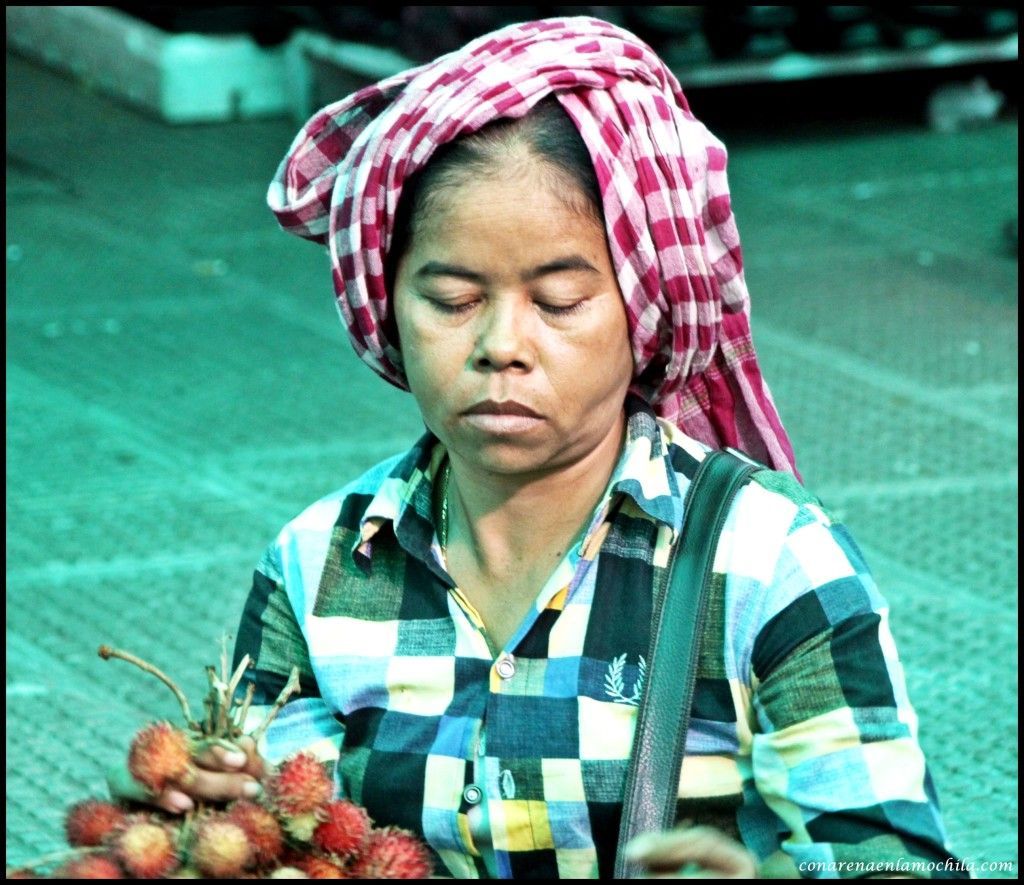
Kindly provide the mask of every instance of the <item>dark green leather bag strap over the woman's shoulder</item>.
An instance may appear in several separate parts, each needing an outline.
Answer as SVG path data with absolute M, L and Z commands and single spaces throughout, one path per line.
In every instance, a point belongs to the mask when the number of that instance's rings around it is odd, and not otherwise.
M 715 548 L 732 500 L 760 469 L 760 464 L 729 450 L 712 452 L 686 493 L 681 537 L 670 554 L 669 579 L 664 593 L 654 599 L 647 685 L 637 711 L 615 849 L 616 879 L 639 878 L 642 872 L 625 858 L 627 843 L 641 833 L 675 826 Z

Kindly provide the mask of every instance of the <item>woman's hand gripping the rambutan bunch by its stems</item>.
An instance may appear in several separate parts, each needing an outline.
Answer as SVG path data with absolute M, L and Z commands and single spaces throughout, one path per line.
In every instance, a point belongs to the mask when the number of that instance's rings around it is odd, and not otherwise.
M 204 749 L 193 757 L 194 765 L 184 777 L 156 796 L 131 776 L 126 762 L 120 763 L 106 773 L 111 796 L 155 805 L 172 814 L 190 811 L 197 802 L 255 799 L 263 791 L 261 781 L 269 773 L 268 766 L 251 738 L 240 738 L 237 744 L 240 750 L 217 746 Z

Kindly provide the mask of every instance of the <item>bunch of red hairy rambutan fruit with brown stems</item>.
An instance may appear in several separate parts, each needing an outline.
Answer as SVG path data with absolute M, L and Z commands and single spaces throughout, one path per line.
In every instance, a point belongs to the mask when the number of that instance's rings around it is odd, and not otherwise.
M 221 678 L 211 671 L 206 720 L 191 720 L 177 686 L 152 665 L 106 646 L 104 658 L 130 661 L 155 673 L 178 696 L 188 729 L 155 722 L 139 730 L 128 754 L 128 770 L 154 795 L 184 777 L 204 746 L 241 736 L 252 692 L 237 702 L 234 689 L 248 659 Z M 297 685 L 293 671 L 270 714 L 251 732 L 258 740 Z M 200 803 L 172 815 L 135 803 L 86 799 L 66 815 L 69 849 L 7 871 L 8 879 L 426 879 L 430 852 L 413 833 L 375 828 L 361 806 L 334 798 L 334 783 L 311 753 L 286 759 L 265 783 L 258 800 L 225 806 Z M 45 874 L 37 872 L 48 868 Z

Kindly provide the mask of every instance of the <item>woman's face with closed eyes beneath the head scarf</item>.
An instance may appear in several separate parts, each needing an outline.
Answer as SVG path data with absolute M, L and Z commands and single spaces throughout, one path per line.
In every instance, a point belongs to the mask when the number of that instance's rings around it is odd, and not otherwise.
M 604 229 L 569 208 L 582 194 L 553 193 L 559 177 L 540 163 L 440 192 L 395 280 L 404 369 L 427 426 L 454 456 L 503 474 L 617 447 L 633 376 Z

